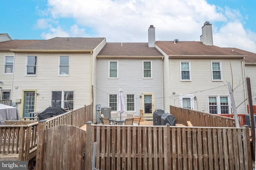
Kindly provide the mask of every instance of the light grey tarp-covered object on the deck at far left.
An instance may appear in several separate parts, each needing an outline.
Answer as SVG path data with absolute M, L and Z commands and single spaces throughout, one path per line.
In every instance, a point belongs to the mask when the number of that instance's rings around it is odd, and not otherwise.
M 0 125 L 4 125 L 5 120 L 20 120 L 17 107 L 0 104 Z

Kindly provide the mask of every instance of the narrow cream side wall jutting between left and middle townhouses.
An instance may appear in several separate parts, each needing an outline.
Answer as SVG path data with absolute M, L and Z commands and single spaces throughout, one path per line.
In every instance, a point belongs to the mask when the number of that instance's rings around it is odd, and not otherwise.
M 97 103 L 97 55 L 100 53 L 102 48 L 106 45 L 106 39 L 104 39 L 98 47 L 94 50 L 92 54 L 92 85 L 93 85 L 93 103 L 94 103 L 94 108 L 93 108 L 93 122 L 96 122 L 96 103 Z

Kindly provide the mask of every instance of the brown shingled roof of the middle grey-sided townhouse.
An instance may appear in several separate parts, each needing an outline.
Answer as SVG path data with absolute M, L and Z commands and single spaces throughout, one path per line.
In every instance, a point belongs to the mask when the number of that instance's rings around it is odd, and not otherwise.
M 143 56 L 143 57 L 163 57 L 155 48 L 148 47 L 148 43 L 106 43 L 97 57 L 100 56 Z

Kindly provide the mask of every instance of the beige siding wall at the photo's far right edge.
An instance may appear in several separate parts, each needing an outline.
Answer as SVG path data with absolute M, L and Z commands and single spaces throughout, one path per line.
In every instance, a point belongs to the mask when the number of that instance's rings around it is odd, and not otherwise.
M 252 91 L 252 104 L 256 105 L 256 65 L 245 65 L 246 76 L 250 78 L 251 91 Z

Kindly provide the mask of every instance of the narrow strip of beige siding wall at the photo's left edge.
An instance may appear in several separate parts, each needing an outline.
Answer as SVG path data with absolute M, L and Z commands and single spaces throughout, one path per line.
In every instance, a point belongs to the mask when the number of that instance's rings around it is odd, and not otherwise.
M 2 100 L 2 92 L 3 91 L 11 91 L 12 90 L 12 74 L 5 74 L 4 73 L 4 59 L 6 56 L 13 56 L 14 53 L 12 52 L 2 52 L 0 53 L 0 100 Z

